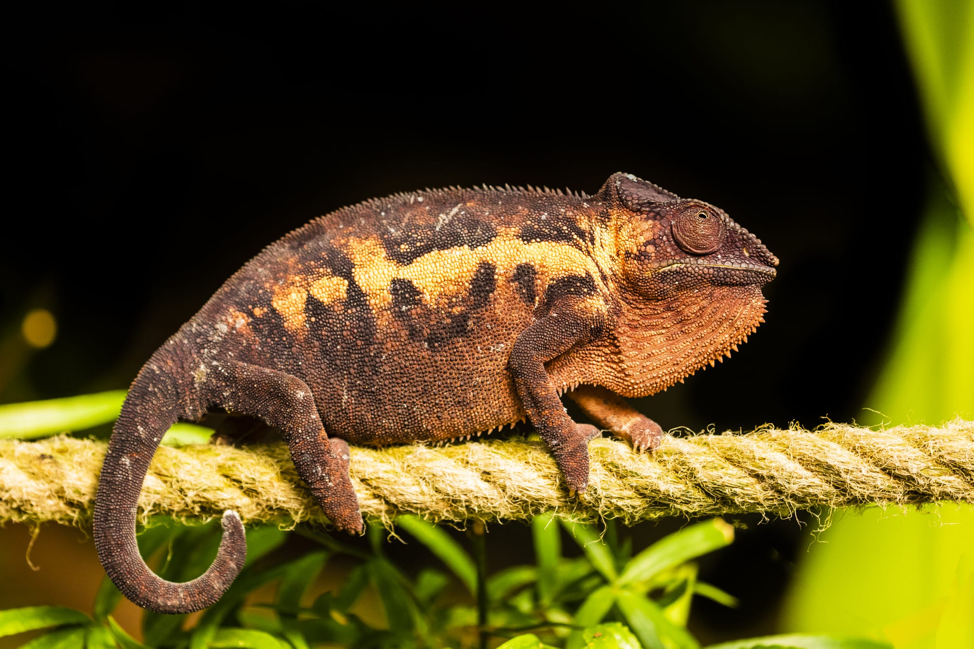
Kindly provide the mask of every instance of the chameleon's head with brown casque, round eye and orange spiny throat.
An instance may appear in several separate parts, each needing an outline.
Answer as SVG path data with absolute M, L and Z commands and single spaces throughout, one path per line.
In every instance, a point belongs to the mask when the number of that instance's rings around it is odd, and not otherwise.
M 764 321 L 761 289 L 778 260 L 723 210 L 624 173 L 600 198 L 617 242 L 618 391 L 652 394 L 713 365 Z

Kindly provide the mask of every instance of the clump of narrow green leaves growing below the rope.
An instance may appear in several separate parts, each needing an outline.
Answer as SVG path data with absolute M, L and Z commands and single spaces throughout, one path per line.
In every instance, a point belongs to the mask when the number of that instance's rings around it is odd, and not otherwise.
M 692 562 L 733 540 L 731 525 L 720 519 L 689 525 L 632 556 L 631 539 L 619 540 L 611 521 L 598 528 L 542 516 L 532 523 L 536 563 L 490 576 L 476 567 L 482 557 L 471 557 L 442 528 L 408 516 L 398 522 L 400 530 L 441 559 L 446 571 L 424 567 L 408 574 L 386 556 L 388 533 L 377 525 L 368 528 L 370 551 L 300 528 L 298 533 L 319 547 L 298 557 L 275 552 L 288 532 L 256 527 L 247 530 L 246 564 L 226 595 L 199 616 L 146 612 L 141 641 L 112 617 L 122 595 L 107 578 L 95 595 L 94 615 L 56 606 L 0 611 L 0 636 L 47 630 L 23 645 L 31 649 L 463 648 L 496 646 L 504 638 L 512 638 L 503 645 L 506 649 L 699 649 L 686 628 L 693 595 L 736 603 L 731 595 L 699 582 Z M 581 547 L 581 557 L 562 555 L 562 528 Z M 485 536 L 482 526 L 471 530 L 471 537 L 480 540 L 471 544 L 474 554 L 483 551 Z M 219 527 L 213 523 L 159 525 L 138 536 L 143 557 L 173 581 L 203 573 L 219 540 Z M 338 557 L 352 560 L 352 571 L 339 588 L 314 596 L 318 575 Z M 472 604 L 456 596 L 453 579 L 469 592 Z M 260 591 L 268 585 L 275 587 L 269 601 L 267 592 Z M 366 591 L 381 602 L 385 624 L 370 624 L 356 614 Z M 880 642 L 805 635 L 727 646 L 889 649 Z

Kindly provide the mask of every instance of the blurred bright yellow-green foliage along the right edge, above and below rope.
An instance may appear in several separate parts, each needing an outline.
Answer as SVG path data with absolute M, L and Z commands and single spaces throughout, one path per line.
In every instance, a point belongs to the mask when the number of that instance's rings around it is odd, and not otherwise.
M 939 157 L 870 423 L 974 414 L 974 2 L 900 0 Z M 892 134 L 891 134 L 892 136 Z M 881 414 L 881 415 L 880 415 Z M 974 510 L 841 517 L 793 584 L 788 629 L 869 633 L 897 649 L 974 647 Z

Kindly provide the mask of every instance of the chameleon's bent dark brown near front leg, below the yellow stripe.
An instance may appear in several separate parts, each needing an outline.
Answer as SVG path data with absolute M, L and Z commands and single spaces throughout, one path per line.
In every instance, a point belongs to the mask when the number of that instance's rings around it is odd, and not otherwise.
M 544 363 L 590 343 L 602 326 L 598 314 L 571 305 L 555 306 L 521 332 L 507 360 L 524 410 L 551 449 L 568 487 L 578 491 L 588 486 L 588 442 L 601 433 L 595 426 L 576 423 L 565 412 Z

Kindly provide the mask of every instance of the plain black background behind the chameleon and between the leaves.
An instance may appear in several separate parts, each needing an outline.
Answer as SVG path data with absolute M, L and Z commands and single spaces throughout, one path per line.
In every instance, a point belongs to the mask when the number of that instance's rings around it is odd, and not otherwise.
M 592 193 L 622 170 L 723 207 L 781 260 L 751 342 L 641 408 L 696 430 L 860 415 L 929 176 L 886 4 L 270 7 L 5 20 L 0 326 L 46 306 L 59 335 L 0 402 L 125 387 L 261 247 L 342 205 Z M 530 560 L 525 527 L 494 531 L 492 563 Z M 769 629 L 805 534 L 752 525 L 705 561 L 744 608 L 700 603 L 694 630 Z

